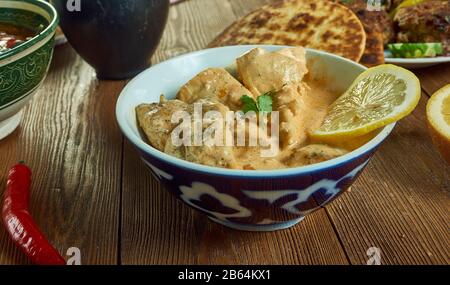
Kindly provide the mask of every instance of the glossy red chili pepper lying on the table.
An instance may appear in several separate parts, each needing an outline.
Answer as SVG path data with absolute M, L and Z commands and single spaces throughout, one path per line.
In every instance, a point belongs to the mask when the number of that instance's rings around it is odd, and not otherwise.
M 64 258 L 47 241 L 28 212 L 31 170 L 17 164 L 8 175 L 2 218 L 14 243 L 39 265 L 65 265 Z

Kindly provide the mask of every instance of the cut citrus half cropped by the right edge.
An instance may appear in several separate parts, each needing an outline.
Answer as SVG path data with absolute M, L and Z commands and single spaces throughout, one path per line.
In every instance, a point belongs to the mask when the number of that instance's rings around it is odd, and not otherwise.
M 427 120 L 433 143 L 450 163 L 450 84 L 431 96 L 427 104 Z

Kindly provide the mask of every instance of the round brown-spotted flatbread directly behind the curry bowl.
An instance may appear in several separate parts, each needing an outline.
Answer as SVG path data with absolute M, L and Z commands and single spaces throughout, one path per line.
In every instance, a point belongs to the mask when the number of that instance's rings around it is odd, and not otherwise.
M 366 34 L 356 15 L 328 0 L 285 0 L 266 5 L 228 27 L 209 46 L 305 46 L 359 61 Z

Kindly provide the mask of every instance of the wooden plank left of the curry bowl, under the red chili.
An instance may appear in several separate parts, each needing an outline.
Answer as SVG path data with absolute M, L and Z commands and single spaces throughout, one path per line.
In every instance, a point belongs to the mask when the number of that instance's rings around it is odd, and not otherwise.
M 117 263 L 122 137 L 115 101 L 123 82 L 98 82 L 70 46 L 57 48 L 19 129 L 0 141 L 0 185 L 25 160 L 33 170 L 31 213 L 63 256 Z M 0 229 L 0 264 L 26 262 Z M 6 249 L 6 250 L 5 250 Z

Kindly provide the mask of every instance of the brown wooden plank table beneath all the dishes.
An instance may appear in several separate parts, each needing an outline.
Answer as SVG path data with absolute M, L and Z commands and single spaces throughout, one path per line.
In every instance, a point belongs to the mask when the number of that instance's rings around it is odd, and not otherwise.
M 171 7 L 153 62 L 205 47 L 236 18 L 269 0 L 190 0 Z M 207 13 L 205 13 L 207 11 Z M 450 82 L 450 65 L 416 72 L 422 100 L 353 186 L 299 225 L 274 233 L 230 230 L 174 199 L 152 178 L 117 126 L 125 81 L 98 81 L 68 45 L 18 130 L 0 141 L 0 185 L 26 160 L 31 212 L 62 253 L 83 264 L 450 263 L 450 167 L 426 130 L 428 96 Z M 1 190 L 0 190 L 1 191 Z M 0 264 L 27 259 L 0 229 Z

